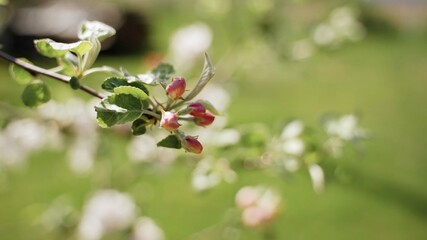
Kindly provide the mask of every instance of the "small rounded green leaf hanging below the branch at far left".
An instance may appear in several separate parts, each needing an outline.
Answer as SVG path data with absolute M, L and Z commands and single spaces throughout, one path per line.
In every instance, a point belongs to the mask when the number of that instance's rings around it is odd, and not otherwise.
M 28 107 L 37 107 L 50 100 L 50 91 L 41 80 L 34 80 L 22 92 L 21 99 Z

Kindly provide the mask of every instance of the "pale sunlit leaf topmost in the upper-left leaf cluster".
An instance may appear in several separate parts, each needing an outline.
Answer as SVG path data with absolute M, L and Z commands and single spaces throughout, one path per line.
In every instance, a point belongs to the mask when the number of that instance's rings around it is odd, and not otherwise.
M 116 30 L 105 23 L 85 21 L 80 25 L 78 37 L 81 40 L 97 38 L 100 42 L 116 34 Z

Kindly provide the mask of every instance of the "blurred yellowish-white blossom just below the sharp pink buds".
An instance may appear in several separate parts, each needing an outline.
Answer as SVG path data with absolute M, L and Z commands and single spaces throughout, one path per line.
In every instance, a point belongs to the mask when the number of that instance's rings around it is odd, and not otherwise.
M 205 158 L 193 170 L 191 183 L 196 191 L 204 191 L 218 185 L 222 180 L 231 183 L 237 178 L 225 158 Z

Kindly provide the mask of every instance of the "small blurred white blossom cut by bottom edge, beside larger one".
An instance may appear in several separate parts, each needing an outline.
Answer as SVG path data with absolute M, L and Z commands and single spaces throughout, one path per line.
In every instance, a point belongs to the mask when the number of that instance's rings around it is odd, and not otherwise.
M 132 240 L 164 240 L 163 230 L 153 219 L 140 217 L 133 226 Z

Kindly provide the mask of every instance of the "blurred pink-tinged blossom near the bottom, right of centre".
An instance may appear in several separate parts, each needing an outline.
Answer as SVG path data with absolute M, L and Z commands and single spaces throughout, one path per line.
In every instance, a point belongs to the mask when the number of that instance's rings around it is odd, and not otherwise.
M 242 222 L 248 227 L 268 224 L 279 213 L 280 195 L 266 187 L 246 186 L 236 194 L 236 205 L 242 210 Z

